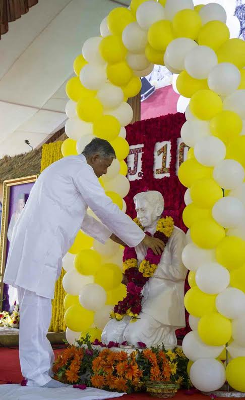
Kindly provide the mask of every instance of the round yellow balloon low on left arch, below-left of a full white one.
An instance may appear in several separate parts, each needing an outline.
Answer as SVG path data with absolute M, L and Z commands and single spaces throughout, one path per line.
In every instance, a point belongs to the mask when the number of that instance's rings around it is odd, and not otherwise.
M 94 313 L 82 306 L 74 305 L 69 307 L 65 313 L 65 324 L 74 332 L 82 332 L 93 323 Z

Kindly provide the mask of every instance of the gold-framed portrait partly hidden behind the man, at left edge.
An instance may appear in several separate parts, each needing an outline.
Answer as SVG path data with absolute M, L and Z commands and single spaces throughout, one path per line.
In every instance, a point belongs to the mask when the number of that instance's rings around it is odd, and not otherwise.
M 12 302 L 14 302 L 17 295 L 15 288 L 4 284 L 5 266 L 15 224 L 25 207 L 37 177 L 38 175 L 33 175 L 4 181 L 0 236 L 0 310 L 9 311 L 11 307 L 10 296 L 12 296 Z

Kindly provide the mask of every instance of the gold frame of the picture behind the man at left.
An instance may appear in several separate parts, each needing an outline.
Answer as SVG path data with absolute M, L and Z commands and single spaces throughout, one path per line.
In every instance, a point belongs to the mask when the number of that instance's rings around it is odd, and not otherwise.
M 24 178 L 16 178 L 4 181 L 3 184 L 3 204 L 2 204 L 2 223 L 1 223 L 1 235 L 0 235 L 0 310 L 2 310 L 3 299 L 4 299 L 4 273 L 5 266 L 7 262 L 7 247 L 8 247 L 8 228 L 9 228 L 9 214 L 10 214 L 10 204 L 11 195 L 13 188 L 16 186 L 21 188 L 21 185 L 27 188 L 27 184 L 35 183 L 38 175 L 27 176 Z M 31 187 L 27 190 L 27 194 L 30 193 Z M 14 200 L 13 200 L 14 201 Z M 12 202 L 13 203 L 13 202 Z

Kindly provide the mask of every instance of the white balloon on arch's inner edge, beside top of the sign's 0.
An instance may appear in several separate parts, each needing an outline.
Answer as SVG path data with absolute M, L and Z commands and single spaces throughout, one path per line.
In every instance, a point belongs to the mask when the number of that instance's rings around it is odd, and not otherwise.
M 210 137 L 211 131 L 207 121 L 186 121 L 180 130 L 180 136 L 188 146 L 194 147 L 205 136 Z

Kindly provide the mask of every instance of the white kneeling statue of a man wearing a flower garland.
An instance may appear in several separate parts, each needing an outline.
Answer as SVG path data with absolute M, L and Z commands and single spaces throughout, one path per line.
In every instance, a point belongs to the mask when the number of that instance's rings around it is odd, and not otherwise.
M 164 210 L 162 194 L 158 191 L 138 193 L 134 203 L 138 220 L 144 230 L 153 235 Z M 165 348 L 176 346 L 175 331 L 186 326 L 183 297 L 187 270 L 181 261 L 185 245 L 185 233 L 174 226 L 157 269 L 144 285 L 139 318 L 133 323 L 129 316 L 121 321 L 111 319 L 102 333 L 104 343 L 127 341 L 136 347 L 138 342 L 145 343 L 147 347 L 162 343 Z M 139 267 L 145 259 L 147 248 L 139 244 L 135 250 Z

